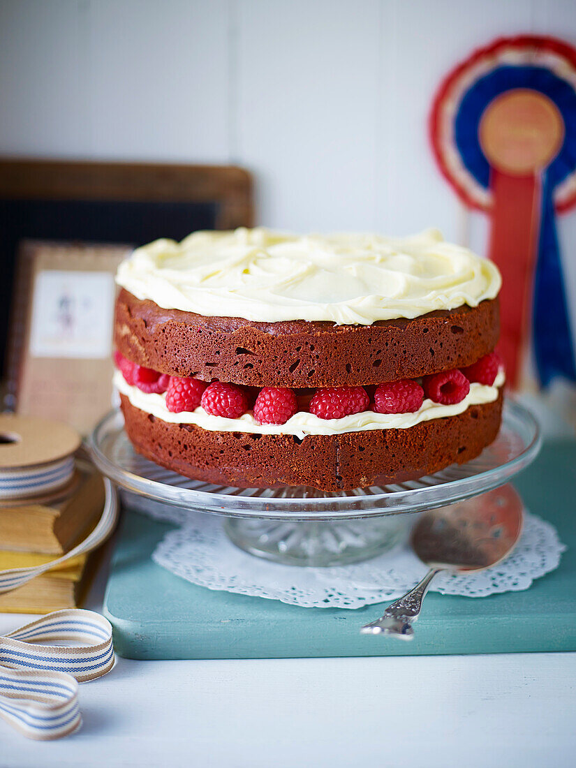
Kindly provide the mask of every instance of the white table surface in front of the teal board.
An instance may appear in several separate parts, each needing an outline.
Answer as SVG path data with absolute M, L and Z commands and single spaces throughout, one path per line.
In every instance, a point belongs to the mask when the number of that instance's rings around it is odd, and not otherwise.
M 0 634 L 29 619 L 0 614 Z M 576 766 L 576 653 L 118 659 L 80 694 L 62 740 L 0 719 L 0 766 Z

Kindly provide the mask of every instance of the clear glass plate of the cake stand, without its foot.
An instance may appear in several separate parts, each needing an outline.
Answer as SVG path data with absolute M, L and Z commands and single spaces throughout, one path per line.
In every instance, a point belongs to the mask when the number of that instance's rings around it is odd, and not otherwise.
M 184 478 L 134 452 L 119 410 L 105 415 L 87 441 L 94 464 L 126 491 L 226 517 L 293 521 L 399 515 L 452 504 L 508 482 L 534 460 L 540 445 L 534 416 L 519 402 L 506 398 L 498 437 L 472 462 L 382 488 L 321 492 L 314 488 L 230 488 Z

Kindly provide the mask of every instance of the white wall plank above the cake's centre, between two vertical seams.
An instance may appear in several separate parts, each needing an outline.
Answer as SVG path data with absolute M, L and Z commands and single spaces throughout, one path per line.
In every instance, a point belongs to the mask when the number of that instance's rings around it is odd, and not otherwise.
M 257 174 L 260 219 L 375 227 L 380 4 L 238 8 L 238 159 Z

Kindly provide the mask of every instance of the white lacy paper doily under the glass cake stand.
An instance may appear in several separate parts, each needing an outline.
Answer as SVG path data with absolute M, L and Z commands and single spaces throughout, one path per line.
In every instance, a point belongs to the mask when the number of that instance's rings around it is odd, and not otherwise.
M 151 502 L 129 505 L 154 518 L 182 525 L 167 533 L 152 557 L 171 573 L 208 589 L 301 607 L 359 608 L 399 598 L 426 571 L 408 547 L 366 562 L 330 568 L 295 568 L 272 563 L 235 547 L 223 531 L 223 521 L 216 516 Z M 439 574 L 432 590 L 483 598 L 528 589 L 535 578 L 558 568 L 564 550 L 554 526 L 526 512 L 520 541 L 505 561 L 477 574 Z

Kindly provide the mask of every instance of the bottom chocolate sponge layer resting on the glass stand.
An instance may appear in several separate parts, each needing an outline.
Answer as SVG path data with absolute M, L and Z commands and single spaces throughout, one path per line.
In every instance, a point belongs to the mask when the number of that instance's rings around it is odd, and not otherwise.
M 309 485 L 336 491 L 403 482 L 470 461 L 498 434 L 502 392 L 495 402 L 409 429 L 303 440 L 170 424 L 135 408 L 124 395 L 121 407 L 137 452 L 180 475 L 239 488 Z

